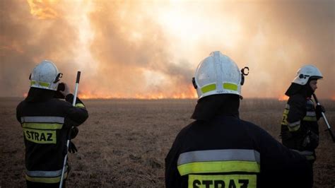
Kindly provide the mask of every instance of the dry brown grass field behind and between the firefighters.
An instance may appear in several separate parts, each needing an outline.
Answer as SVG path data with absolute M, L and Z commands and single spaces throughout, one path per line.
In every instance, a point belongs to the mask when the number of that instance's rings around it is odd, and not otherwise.
M 0 99 L 0 187 L 25 187 L 24 144 L 16 105 Z M 79 127 L 66 187 L 164 187 L 164 158 L 177 133 L 192 122 L 196 100 L 84 100 L 90 117 Z M 321 101 L 335 131 L 335 102 Z M 240 117 L 279 140 L 286 102 L 245 99 Z M 315 162 L 315 187 L 335 186 L 335 144 L 323 120 Z

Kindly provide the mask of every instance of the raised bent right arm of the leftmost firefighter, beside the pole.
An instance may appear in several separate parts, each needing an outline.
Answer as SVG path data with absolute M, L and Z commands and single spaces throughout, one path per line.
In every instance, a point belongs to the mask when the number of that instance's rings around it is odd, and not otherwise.
M 74 95 L 71 93 L 66 95 L 65 100 L 69 102 L 69 105 L 71 105 L 74 100 Z M 69 119 L 74 122 L 73 125 L 75 126 L 82 124 L 88 118 L 88 111 L 86 110 L 84 103 L 79 98 L 76 98 L 75 106 L 71 105 L 67 107 L 66 114 L 67 117 L 69 117 Z

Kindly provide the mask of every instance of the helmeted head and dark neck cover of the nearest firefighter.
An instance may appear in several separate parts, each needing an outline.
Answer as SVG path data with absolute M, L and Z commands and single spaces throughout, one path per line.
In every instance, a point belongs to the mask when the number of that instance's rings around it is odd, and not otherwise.
M 211 52 L 202 60 L 192 80 L 198 93 L 193 119 L 207 120 L 219 114 L 239 114 L 241 86 L 249 74 L 221 52 Z

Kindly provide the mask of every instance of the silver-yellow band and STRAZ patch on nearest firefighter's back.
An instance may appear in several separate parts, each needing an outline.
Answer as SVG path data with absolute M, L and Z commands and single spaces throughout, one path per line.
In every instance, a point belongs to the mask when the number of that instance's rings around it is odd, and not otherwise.
M 189 187 L 218 187 L 222 185 L 236 187 L 242 184 L 247 187 L 257 187 L 257 175 L 243 175 L 241 172 L 258 173 L 260 172 L 259 163 L 259 152 L 254 150 L 205 150 L 180 154 L 177 168 L 180 175 L 189 176 Z M 225 172 L 231 174 L 208 174 Z M 234 174 L 234 172 L 239 173 Z

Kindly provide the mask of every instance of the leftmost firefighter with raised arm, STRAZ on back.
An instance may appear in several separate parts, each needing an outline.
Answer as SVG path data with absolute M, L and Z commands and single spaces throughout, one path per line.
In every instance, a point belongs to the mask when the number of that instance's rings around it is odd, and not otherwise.
M 75 107 L 71 105 L 74 95 L 64 84 L 59 92 L 64 100 L 54 98 L 62 74 L 52 61 L 42 61 L 30 74 L 28 96 L 16 108 L 16 118 L 23 128 L 25 142 L 25 180 L 27 187 L 59 187 L 66 140 L 78 134 L 77 127 L 88 118 L 85 105 L 78 98 Z M 71 131 L 70 131 L 71 130 Z M 70 152 L 75 152 L 73 143 Z M 69 174 L 66 165 L 65 179 Z

